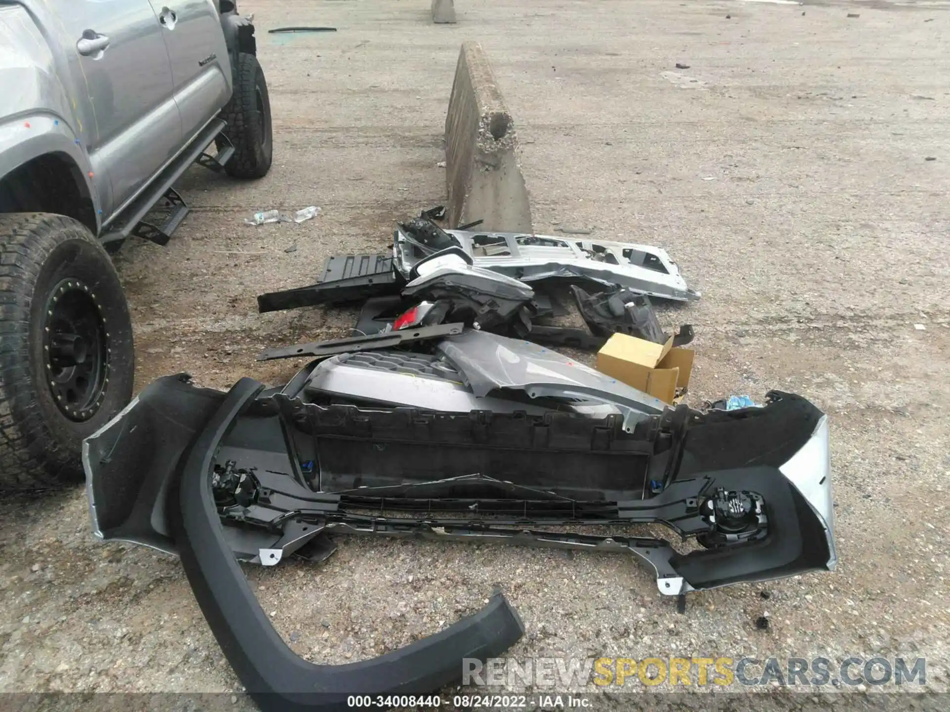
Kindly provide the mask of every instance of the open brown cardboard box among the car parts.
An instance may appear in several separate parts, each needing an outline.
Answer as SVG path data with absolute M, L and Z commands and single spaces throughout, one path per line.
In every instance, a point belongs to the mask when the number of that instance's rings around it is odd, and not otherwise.
M 597 354 L 597 369 L 665 403 L 673 403 L 676 388 L 685 388 L 693 372 L 693 349 L 614 334 Z

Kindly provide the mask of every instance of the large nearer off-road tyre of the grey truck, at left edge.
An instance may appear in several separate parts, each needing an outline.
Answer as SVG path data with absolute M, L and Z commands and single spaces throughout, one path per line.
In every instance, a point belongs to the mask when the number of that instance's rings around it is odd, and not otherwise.
M 75 281 L 74 281 L 75 280 Z M 101 327 L 99 404 L 70 420 L 49 384 L 47 310 L 80 285 Z M 66 289 L 64 287 L 64 289 Z M 67 304 L 72 292 L 62 297 Z M 54 302 L 56 303 L 56 302 Z M 129 402 L 135 376 L 132 322 L 119 276 L 85 226 L 64 215 L 0 215 L 0 489 L 37 489 L 79 481 L 82 442 Z

